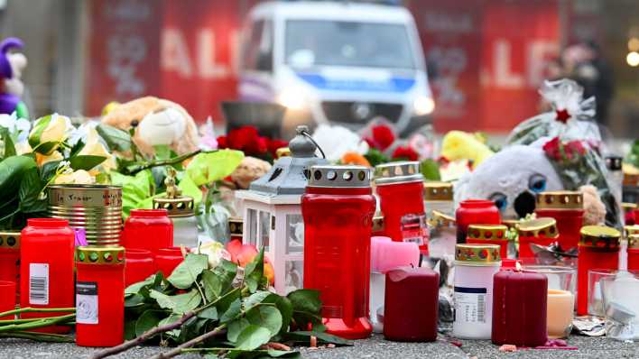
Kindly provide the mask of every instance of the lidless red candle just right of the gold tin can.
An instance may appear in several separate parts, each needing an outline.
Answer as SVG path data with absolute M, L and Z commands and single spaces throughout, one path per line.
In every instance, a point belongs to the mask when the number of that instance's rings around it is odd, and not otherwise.
M 123 233 L 126 249 L 156 253 L 173 246 L 173 223 L 166 209 L 132 209 Z

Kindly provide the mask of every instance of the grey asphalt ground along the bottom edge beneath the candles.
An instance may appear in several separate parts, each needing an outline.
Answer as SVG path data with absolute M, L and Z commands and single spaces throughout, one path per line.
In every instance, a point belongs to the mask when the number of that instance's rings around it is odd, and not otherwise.
M 570 336 L 568 344 L 577 350 L 562 349 L 520 349 L 514 353 L 501 353 L 497 345 L 486 340 L 450 341 L 443 336 L 433 343 L 388 342 L 382 336 L 357 340 L 352 346 L 337 348 L 301 348 L 303 358 L 309 359 L 424 359 L 424 358 L 639 358 L 639 344 L 618 342 L 606 337 Z M 458 346 L 460 345 L 460 346 Z M 113 356 L 113 358 L 145 358 L 156 354 L 157 346 L 138 346 Z M 49 359 L 88 358 L 95 349 L 72 344 L 34 343 L 27 340 L 0 339 L 0 358 Z M 199 358 L 197 354 L 182 355 L 180 358 Z

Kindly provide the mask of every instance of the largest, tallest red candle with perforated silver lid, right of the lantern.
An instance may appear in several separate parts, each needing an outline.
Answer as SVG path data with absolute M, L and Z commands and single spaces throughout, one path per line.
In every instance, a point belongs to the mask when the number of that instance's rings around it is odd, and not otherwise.
M 421 201 L 421 198 L 420 198 Z M 370 336 L 371 222 L 375 197 L 362 166 L 313 166 L 304 195 L 304 288 L 319 290 L 327 332 Z

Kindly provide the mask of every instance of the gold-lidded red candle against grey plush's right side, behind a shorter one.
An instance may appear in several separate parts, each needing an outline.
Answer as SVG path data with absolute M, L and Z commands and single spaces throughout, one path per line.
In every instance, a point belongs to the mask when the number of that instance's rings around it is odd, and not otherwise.
M 584 223 L 583 194 L 578 191 L 552 191 L 537 195 L 534 212 L 538 217 L 551 217 L 557 221 L 561 249 L 568 252 L 579 244 L 579 230 Z

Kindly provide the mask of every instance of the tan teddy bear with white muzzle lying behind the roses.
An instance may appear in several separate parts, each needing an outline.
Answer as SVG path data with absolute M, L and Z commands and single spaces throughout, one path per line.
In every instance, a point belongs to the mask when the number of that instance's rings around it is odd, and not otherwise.
M 103 124 L 121 130 L 135 129 L 134 143 L 145 155 L 153 156 L 153 146 L 168 145 L 178 154 L 197 151 L 198 128 L 180 105 L 158 97 L 141 97 L 124 104 L 109 104 Z

